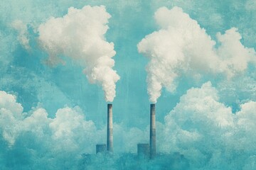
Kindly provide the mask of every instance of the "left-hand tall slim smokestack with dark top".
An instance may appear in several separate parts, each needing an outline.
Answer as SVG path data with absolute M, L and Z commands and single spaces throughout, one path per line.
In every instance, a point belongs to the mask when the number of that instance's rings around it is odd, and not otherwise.
M 107 152 L 113 152 L 112 104 L 107 104 Z

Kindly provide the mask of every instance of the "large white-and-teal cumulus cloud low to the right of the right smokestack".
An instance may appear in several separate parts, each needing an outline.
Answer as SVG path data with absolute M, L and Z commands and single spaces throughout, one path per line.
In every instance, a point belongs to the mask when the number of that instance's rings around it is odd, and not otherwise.
M 232 113 L 210 82 L 189 89 L 159 125 L 159 149 L 183 153 L 192 169 L 255 167 L 255 107 L 249 101 Z

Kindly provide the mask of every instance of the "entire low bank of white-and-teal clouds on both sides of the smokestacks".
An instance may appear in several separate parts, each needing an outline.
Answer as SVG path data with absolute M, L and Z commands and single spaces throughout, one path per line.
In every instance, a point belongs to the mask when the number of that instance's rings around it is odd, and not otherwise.
M 156 124 L 157 150 L 184 154 L 190 169 L 255 169 L 256 102 L 243 103 L 240 111 L 232 113 L 219 101 L 218 93 L 207 82 L 181 96 L 164 123 Z M 3 169 L 11 161 L 15 162 L 9 165 L 11 169 L 41 169 L 42 164 L 48 169 L 78 169 L 81 155 L 95 153 L 95 144 L 105 142 L 105 128 L 96 128 L 78 107 L 60 108 L 55 118 L 49 118 L 44 108 L 24 113 L 16 97 L 5 91 L 0 91 L 0 98 L 0 155 L 6 157 L 0 159 Z M 148 142 L 148 137 L 149 127 L 127 129 L 115 124 L 114 150 L 137 152 L 137 143 Z M 26 161 L 19 163 L 21 157 L 11 157 L 18 153 L 24 154 Z M 95 161 L 102 162 L 102 158 Z M 150 164 L 156 167 L 162 162 L 169 160 L 156 159 Z

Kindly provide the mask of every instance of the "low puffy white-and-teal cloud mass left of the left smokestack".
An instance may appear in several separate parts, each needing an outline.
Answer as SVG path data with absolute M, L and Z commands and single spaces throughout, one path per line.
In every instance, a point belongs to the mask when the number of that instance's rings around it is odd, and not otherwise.
M 76 164 L 81 154 L 95 152 L 95 144 L 104 136 L 103 131 L 97 130 L 91 120 L 85 120 L 78 106 L 60 108 L 55 118 L 49 118 L 47 111 L 40 107 L 23 113 L 16 96 L 5 91 L 0 91 L 0 98 L 0 139 L 6 143 L 4 155 L 6 159 L 21 159 L 8 158 L 11 152 L 20 152 L 27 155 L 27 160 L 34 159 L 33 162 L 24 162 L 23 167 L 47 162 L 48 168 L 52 168 L 53 164 L 68 157 Z M 70 155 L 73 157 L 70 158 Z M 14 161 L 16 164 L 11 165 L 13 168 L 18 166 Z M 7 162 L 4 159 L 2 164 Z

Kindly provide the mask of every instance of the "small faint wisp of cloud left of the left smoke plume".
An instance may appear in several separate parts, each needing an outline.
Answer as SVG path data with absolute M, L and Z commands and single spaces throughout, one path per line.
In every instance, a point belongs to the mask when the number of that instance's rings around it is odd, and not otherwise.
M 21 20 L 16 20 L 11 23 L 11 26 L 13 26 L 13 28 L 18 32 L 18 41 L 21 43 L 21 45 L 26 50 L 30 50 L 31 47 L 29 45 L 28 28 L 26 24 Z

